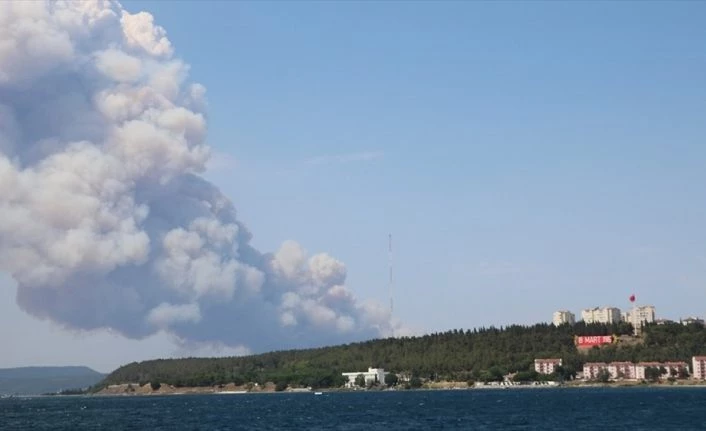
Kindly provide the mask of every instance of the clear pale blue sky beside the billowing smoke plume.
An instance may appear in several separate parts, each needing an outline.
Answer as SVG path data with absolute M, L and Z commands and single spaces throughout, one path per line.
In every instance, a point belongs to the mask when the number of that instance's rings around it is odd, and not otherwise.
M 260 249 L 329 252 L 386 302 L 392 233 L 424 331 L 631 293 L 706 315 L 706 3 L 122 3 L 208 89 L 206 175 Z

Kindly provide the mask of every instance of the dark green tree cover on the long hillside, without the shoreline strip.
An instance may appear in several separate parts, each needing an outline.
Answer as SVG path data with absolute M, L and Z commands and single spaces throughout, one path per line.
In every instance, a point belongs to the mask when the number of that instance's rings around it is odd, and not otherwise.
M 111 373 L 101 387 L 117 383 L 158 382 L 175 386 L 210 386 L 271 381 L 312 387 L 343 384 L 341 372 L 382 367 L 435 380 L 494 380 L 508 372 L 527 371 L 535 358 L 562 358 L 567 375 L 587 361 L 683 360 L 706 354 L 702 326 L 648 326 L 642 342 L 578 352 L 575 335 L 630 334 L 620 325 L 538 324 L 452 330 L 421 337 L 371 340 L 318 349 L 271 352 L 228 358 L 161 359 L 131 363 Z

